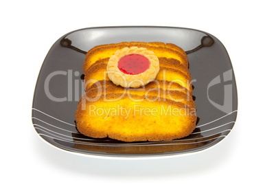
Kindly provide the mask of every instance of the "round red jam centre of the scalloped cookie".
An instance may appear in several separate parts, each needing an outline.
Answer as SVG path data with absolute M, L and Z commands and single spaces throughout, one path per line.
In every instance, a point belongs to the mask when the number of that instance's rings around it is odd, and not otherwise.
M 150 61 L 139 54 L 130 54 L 119 60 L 118 68 L 128 75 L 137 75 L 150 68 Z

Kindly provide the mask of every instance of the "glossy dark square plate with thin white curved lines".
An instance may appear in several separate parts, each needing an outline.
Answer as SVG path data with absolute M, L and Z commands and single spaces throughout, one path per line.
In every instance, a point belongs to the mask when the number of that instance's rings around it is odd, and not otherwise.
M 96 45 L 123 41 L 174 43 L 189 59 L 198 123 L 192 135 L 161 142 L 124 143 L 78 133 L 75 111 L 83 89 L 82 64 Z M 105 157 L 160 157 L 205 150 L 222 141 L 237 116 L 231 60 L 218 39 L 181 27 L 91 27 L 62 36 L 49 50 L 36 83 L 32 122 L 45 141 L 69 152 Z

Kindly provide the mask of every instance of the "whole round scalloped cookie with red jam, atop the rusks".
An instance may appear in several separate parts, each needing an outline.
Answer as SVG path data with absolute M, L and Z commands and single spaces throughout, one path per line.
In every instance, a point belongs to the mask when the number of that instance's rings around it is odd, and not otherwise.
M 137 88 L 156 78 L 159 59 L 146 48 L 124 47 L 109 58 L 106 70 L 114 84 Z

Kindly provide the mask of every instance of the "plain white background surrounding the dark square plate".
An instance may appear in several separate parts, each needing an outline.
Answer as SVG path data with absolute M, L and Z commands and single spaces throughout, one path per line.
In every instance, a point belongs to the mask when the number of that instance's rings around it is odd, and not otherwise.
M 183 2 L 183 3 L 181 3 Z M 1 181 L 5 183 L 275 183 L 273 1 L 1 1 Z M 216 36 L 238 84 L 229 136 L 197 154 L 147 160 L 83 157 L 32 126 L 36 78 L 51 45 L 84 27 L 161 25 Z

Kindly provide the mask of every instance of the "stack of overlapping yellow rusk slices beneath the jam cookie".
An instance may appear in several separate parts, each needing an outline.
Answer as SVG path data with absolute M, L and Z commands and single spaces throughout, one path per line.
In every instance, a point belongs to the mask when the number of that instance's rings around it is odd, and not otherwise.
M 159 59 L 155 80 L 138 88 L 113 84 L 106 73 L 108 60 L 124 47 L 154 52 Z M 83 65 L 86 93 L 76 111 L 78 130 L 89 137 L 127 142 L 171 141 L 190 135 L 197 117 L 188 66 L 185 51 L 168 43 L 113 43 L 92 48 Z M 129 110 L 128 116 L 121 110 Z

